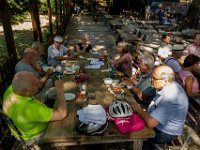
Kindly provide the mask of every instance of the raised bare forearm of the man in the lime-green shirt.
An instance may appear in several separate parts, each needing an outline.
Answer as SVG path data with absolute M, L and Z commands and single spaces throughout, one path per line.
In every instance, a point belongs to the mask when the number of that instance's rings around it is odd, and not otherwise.
M 67 105 L 64 98 L 62 80 L 55 81 L 55 88 L 57 93 L 57 105 L 53 110 L 51 121 L 62 120 L 67 117 Z

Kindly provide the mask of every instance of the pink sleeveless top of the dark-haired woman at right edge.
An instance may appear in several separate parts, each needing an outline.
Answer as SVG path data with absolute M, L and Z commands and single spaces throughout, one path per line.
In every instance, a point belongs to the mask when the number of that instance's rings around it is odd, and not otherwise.
M 193 82 L 193 85 L 192 85 L 192 92 L 194 92 L 194 93 L 199 92 L 199 83 L 190 71 L 181 70 L 181 71 L 178 72 L 178 75 L 183 82 L 183 86 L 185 86 L 185 78 L 188 77 L 188 76 L 192 76 L 193 79 L 194 79 L 194 82 Z

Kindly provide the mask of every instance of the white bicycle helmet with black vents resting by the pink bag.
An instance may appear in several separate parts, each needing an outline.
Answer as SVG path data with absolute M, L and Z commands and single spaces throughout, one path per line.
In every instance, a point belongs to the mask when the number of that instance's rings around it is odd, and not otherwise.
M 109 106 L 109 114 L 113 118 L 129 117 L 133 113 L 131 106 L 125 101 L 113 101 Z

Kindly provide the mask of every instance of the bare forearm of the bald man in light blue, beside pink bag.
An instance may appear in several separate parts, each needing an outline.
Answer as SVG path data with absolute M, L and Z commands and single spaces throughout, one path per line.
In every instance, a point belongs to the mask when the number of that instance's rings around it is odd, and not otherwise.
M 159 122 L 156 119 L 151 117 L 137 103 L 132 103 L 131 107 L 132 107 L 133 111 L 137 112 L 140 115 L 140 117 L 145 121 L 146 126 L 148 128 L 154 128 L 159 124 Z

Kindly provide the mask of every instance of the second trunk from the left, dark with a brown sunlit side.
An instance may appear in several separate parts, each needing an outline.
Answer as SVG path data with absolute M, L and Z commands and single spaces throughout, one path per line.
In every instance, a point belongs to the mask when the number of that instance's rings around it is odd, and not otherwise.
M 43 42 L 42 32 L 41 32 L 41 27 L 40 27 L 38 0 L 29 0 L 29 11 L 31 14 L 34 40 Z

